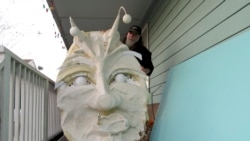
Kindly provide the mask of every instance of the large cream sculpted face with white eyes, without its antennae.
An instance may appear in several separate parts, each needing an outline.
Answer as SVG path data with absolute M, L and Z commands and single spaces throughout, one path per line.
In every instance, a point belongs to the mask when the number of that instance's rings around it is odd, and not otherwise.
M 76 35 L 56 82 L 65 136 L 69 141 L 139 140 L 148 91 L 136 54 L 119 41 L 118 32 Z

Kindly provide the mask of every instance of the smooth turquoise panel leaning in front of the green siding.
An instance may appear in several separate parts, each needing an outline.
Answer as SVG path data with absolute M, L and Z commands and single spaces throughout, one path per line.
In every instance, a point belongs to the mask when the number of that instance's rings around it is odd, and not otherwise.
M 250 141 L 250 31 L 171 68 L 150 141 Z

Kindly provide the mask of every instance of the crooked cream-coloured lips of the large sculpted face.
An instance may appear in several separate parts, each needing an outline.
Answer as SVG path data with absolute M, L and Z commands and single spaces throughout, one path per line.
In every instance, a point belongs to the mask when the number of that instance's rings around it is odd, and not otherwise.
M 98 117 L 97 125 L 92 129 L 92 132 L 107 134 L 119 134 L 129 128 L 128 120 L 121 114 L 114 113 L 108 116 L 100 115 Z

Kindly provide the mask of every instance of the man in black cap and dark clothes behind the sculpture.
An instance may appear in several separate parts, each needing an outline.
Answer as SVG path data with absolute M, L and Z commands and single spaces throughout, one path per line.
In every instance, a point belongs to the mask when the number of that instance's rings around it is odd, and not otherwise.
M 151 52 L 143 45 L 141 28 L 137 25 L 131 26 L 123 39 L 123 43 L 126 44 L 130 50 L 142 55 L 142 60 L 138 58 L 137 60 L 141 65 L 141 70 L 150 76 L 154 70 L 154 66 L 151 60 Z

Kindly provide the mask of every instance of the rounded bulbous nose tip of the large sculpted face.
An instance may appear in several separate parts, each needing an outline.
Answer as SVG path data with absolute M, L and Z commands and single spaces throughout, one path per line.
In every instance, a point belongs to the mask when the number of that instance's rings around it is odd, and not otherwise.
M 88 105 L 98 111 L 108 111 L 117 107 L 119 104 L 120 98 L 109 94 L 93 96 L 88 101 Z

